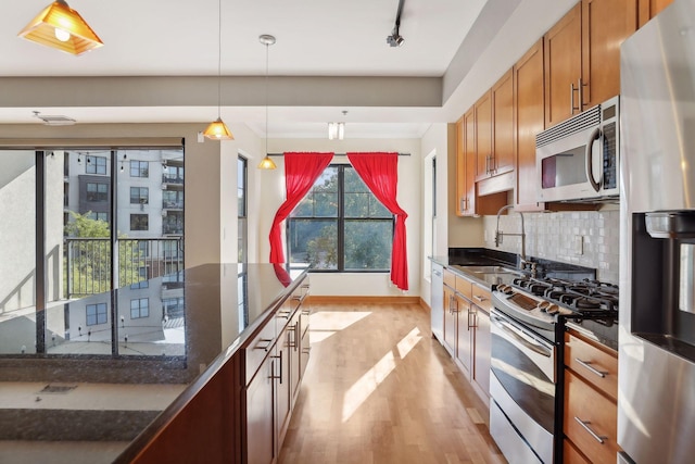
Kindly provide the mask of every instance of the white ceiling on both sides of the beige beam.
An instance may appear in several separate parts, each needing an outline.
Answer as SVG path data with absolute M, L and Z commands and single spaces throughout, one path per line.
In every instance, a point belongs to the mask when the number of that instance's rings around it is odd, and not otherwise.
M 104 46 L 73 57 L 17 38 L 50 0 L 12 2 L 0 16 L 0 80 L 23 76 L 271 76 L 443 77 L 475 21 L 493 0 L 405 0 L 401 35 L 391 48 L 397 0 L 70 0 Z M 496 0 L 497 3 L 505 0 Z M 506 0 L 509 1 L 509 0 Z M 218 21 L 222 18 L 222 35 Z M 477 24 L 476 27 L 485 27 Z M 222 41 L 218 63 L 218 40 Z M 460 53 L 459 53 L 460 55 Z M 475 57 L 468 57 L 475 60 Z M 463 76 L 458 76 L 459 78 Z M 1 89 L 0 89 L 1 91 Z M 36 122 L 30 110 L 65 114 L 78 123 L 206 121 L 210 108 L 0 108 L 0 123 Z M 349 114 L 352 137 L 419 137 L 441 108 L 273 108 L 274 137 L 326 137 L 326 122 Z M 225 108 L 224 117 L 263 133 L 263 106 Z

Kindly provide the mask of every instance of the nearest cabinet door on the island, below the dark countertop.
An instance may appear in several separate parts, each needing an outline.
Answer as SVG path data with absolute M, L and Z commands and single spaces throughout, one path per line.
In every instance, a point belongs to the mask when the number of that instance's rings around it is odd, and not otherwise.
M 269 464 L 275 457 L 274 361 L 270 356 L 266 358 L 247 388 L 248 464 Z

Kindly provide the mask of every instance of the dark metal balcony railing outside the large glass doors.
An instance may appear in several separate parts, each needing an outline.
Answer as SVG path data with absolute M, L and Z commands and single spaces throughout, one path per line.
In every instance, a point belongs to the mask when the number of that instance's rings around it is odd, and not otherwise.
M 124 287 L 184 268 L 184 238 L 118 239 L 118 278 Z M 65 296 L 76 298 L 111 290 L 111 241 L 65 238 Z

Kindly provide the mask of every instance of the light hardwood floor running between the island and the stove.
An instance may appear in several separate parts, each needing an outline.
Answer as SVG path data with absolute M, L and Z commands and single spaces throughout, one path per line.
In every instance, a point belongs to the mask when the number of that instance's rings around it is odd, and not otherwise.
M 280 464 L 505 463 L 417 304 L 314 304 Z

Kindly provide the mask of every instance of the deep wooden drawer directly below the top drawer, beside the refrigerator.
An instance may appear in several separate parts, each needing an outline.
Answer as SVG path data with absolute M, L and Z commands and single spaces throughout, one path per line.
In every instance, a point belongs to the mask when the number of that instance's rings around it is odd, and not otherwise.
M 615 463 L 618 406 L 570 371 L 565 372 L 563 429 L 593 463 Z

